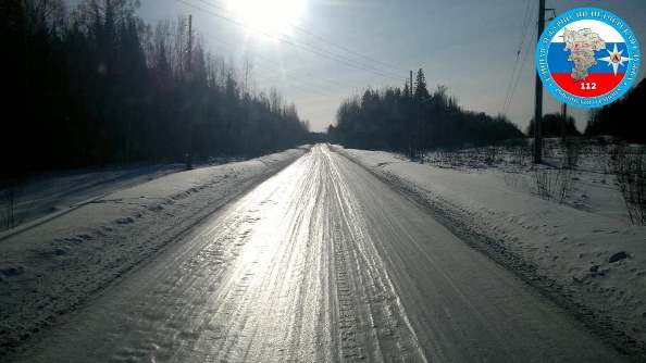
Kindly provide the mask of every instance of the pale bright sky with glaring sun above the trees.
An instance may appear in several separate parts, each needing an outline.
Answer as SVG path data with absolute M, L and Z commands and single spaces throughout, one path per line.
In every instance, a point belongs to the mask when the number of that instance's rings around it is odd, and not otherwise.
M 623 17 L 646 47 L 644 0 L 547 0 L 557 13 L 588 5 Z M 191 13 L 207 48 L 240 67 L 250 60 L 256 90 L 276 87 L 312 130 L 334 123 L 345 98 L 368 86 L 403 86 L 420 67 L 430 88 L 447 86 L 465 109 L 506 111 L 524 129 L 533 115 L 537 8 L 538 0 L 141 0 L 139 14 L 154 22 Z M 558 108 L 546 93 L 545 112 Z M 573 114 L 583 130 L 587 111 Z

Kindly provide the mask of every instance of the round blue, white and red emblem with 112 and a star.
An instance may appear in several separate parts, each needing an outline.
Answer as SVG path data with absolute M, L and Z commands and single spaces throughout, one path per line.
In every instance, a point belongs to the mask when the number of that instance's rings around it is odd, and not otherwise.
M 552 20 L 536 45 L 536 71 L 557 99 L 599 108 L 629 90 L 639 71 L 630 26 L 598 8 L 576 8 Z

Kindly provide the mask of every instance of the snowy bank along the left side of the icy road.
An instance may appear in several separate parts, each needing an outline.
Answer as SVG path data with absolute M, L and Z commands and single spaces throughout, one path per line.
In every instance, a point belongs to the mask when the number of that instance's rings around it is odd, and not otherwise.
M 308 150 L 166 175 L 0 237 L 0 356 Z

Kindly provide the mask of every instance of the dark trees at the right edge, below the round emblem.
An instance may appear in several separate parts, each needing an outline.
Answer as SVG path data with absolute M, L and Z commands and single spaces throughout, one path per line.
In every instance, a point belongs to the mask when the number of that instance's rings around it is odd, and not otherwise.
M 585 135 L 611 135 L 632 142 L 646 143 L 644 108 L 646 79 L 642 79 L 620 100 L 593 112 L 585 127 Z

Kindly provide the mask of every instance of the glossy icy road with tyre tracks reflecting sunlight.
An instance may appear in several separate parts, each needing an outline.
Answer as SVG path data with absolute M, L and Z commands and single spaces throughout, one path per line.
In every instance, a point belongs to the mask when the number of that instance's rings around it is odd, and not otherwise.
M 613 362 L 427 212 L 316 146 L 18 362 Z

